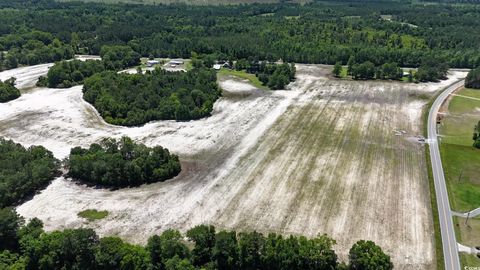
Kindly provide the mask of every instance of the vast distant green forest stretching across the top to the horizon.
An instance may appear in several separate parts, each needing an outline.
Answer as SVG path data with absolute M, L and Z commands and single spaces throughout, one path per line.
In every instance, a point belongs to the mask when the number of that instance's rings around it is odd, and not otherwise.
M 25 56 L 42 46 L 69 48 L 55 57 L 68 58 L 70 48 L 101 54 L 104 45 L 121 45 L 154 57 L 189 58 L 195 52 L 228 60 L 345 65 L 353 56 L 375 66 L 419 67 L 427 58 L 450 67 L 480 65 L 478 5 L 341 0 L 197 7 L 13 0 L 2 7 L 0 47 L 26 50 Z M 32 31 L 48 36 L 24 37 Z M 12 48 L 9 39 L 17 37 L 23 41 Z

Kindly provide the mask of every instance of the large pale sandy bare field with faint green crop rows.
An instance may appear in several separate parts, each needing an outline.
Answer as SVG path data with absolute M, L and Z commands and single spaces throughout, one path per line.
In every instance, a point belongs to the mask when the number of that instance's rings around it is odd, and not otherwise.
M 167 228 L 219 228 L 314 236 L 327 233 L 346 259 L 359 239 L 374 240 L 397 269 L 435 269 L 421 112 L 441 83 L 352 82 L 331 67 L 297 65 L 286 91 L 220 80 L 224 97 L 197 121 L 106 124 L 81 87 L 34 89 L 0 105 L 0 135 L 42 144 L 59 158 L 71 147 L 129 135 L 181 156 L 173 180 L 109 191 L 62 177 L 17 208 L 46 229 L 86 226 L 144 243 Z M 2 74 L 0 73 L 0 77 Z M 88 222 L 85 209 L 107 210 Z

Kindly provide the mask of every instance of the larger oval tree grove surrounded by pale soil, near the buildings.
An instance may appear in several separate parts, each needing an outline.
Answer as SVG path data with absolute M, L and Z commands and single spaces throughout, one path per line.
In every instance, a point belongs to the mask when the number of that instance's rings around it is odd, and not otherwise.
M 85 80 L 84 99 L 110 124 L 136 126 L 152 120 L 191 120 L 209 116 L 220 97 L 216 73 L 163 69 L 145 74 L 102 72 Z

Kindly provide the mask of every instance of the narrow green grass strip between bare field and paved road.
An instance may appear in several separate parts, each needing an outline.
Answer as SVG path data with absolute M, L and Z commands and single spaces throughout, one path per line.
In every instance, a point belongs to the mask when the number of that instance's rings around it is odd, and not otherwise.
M 432 107 L 433 102 L 437 99 L 438 95 L 441 92 L 436 94 L 428 103 L 428 105 L 423 110 L 423 135 L 425 138 L 428 138 L 428 113 Z M 445 259 L 443 257 L 442 249 L 442 235 L 440 233 L 440 220 L 438 218 L 438 207 L 437 207 L 437 195 L 435 193 L 435 182 L 433 180 L 432 172 L 432 162 L 430 160 L 430 148 L 428 144 L 425 145 L 425 160 L 427 162 L 427 173 L 428 173 L 428 186 L 430 187 L 430 203 L 432 206 L 432 216 L 433 216 L 433 229 L 435 235 L 435 258 L 438 270 L 445 270 Z

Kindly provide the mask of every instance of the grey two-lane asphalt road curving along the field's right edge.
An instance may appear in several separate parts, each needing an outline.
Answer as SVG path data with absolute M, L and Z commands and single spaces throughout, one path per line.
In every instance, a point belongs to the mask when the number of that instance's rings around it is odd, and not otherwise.
M 456 82 L 447 87 L 435 100 L 428 114 L 428 144 L 430 147 L 430 159 L 432 162 L 433 179 L 435 182 L 435 194 L 437 195 L 438 219 L 442 235 L 443 256 L 446 270 L 460 270 L 457 240 L 453 227 L 452 212 L 448 201 L 447 186 L 443 173 L 440 150 L 437 136 L 437 113 L 442 103 L 456 89 L 463 86 L 464 81 Z

